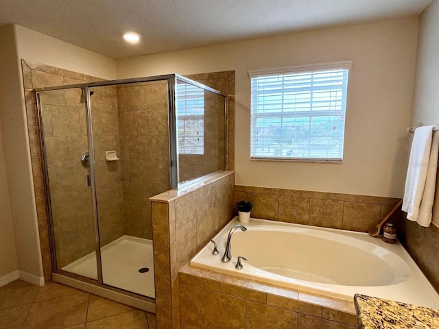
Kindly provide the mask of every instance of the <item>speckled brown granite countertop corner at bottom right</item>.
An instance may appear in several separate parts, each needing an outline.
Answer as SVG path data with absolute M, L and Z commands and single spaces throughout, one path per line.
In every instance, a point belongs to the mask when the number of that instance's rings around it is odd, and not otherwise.
M 366 295 L 354 296 L 361 329 L 439 328 L 439 310 Z

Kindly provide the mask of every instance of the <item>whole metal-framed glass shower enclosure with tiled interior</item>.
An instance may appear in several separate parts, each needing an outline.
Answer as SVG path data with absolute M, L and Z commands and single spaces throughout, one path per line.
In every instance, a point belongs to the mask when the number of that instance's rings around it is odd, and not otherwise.
M 36 99 L 54 278 L 154 310 L 149 198 L 225 169 L 226 95 L 163 75 Z

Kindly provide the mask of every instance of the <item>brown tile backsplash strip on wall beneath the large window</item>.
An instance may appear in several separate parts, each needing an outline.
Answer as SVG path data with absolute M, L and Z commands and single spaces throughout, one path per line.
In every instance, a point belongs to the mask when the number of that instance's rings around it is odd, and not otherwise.
M 398 203 L 394 197 L 235 186 L 235 200 L 251 200 L 252 217 L 287 223 L 368 232 Z M 237 215 L 237 214 L 235 214 Z M 390 221 L 398 222 L 401 211 Z

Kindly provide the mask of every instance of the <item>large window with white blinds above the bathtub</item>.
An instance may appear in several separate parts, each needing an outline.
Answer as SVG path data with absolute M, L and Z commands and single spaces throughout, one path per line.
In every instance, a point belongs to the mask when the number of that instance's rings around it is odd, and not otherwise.
M 251 158 L 341 161 L 351 64 L 249 71 Z

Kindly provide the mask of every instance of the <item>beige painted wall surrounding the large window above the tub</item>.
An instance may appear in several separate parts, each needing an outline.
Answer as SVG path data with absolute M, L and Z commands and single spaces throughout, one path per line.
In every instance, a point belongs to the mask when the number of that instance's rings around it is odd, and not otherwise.
M 236 71 L 237 184 L 386 197 L 403 194 L 418 18 L 246 40 L 117 61 L 117 77 Z M 343 164 L 250 161 L 248 70 L 353 60 Z

